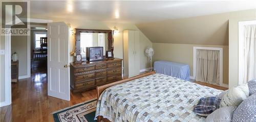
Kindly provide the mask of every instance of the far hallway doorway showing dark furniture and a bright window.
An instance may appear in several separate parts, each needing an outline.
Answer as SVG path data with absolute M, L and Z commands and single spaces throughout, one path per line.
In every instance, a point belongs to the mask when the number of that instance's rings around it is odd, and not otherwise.
M 41 86 L 47 84 L 47 24 L 37 23 L 30 30 L 31 80 Z

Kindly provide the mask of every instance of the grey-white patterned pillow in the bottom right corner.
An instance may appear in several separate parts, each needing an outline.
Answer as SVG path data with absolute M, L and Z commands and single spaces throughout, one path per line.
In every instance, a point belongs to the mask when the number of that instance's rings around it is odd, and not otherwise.
M 232 121 L 256 121 L 256 94 L 251 95 L 238 106 Z

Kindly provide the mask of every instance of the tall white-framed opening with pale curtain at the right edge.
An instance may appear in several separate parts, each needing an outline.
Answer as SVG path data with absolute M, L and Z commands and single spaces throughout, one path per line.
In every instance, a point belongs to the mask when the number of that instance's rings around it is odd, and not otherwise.
M 256 20 L 239 22 L 239 85 L 256 78 Z

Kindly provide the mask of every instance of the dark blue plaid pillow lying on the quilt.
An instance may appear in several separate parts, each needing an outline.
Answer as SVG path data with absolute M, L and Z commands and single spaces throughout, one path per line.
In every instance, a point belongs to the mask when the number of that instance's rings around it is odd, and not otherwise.
M 207 116 L 219 108 L 220 101 L 218 97 L 201 98 L 193 111 L 197 115 Z

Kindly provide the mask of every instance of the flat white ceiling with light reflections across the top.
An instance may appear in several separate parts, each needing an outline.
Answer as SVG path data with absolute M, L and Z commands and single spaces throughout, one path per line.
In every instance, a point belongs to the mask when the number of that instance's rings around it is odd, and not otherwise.
M 256 1 L 31 1 L 31 17 L 143 23 L 256 8 Z

